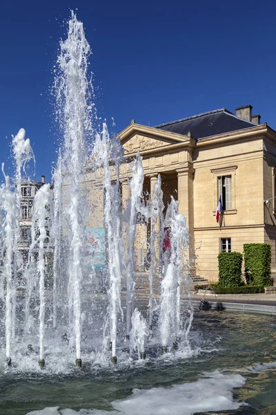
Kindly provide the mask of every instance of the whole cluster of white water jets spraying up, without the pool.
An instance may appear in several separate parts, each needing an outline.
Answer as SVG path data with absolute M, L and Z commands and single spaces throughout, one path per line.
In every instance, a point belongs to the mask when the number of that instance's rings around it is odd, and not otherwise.
M 62 362 L 59 369 L 53 369 L 62 371 L 66 365 L 70 367 L 72 353 L 77 360 L 86 356 L 92 365 L 94 362 L 106 365 L 108 341 L 112 358 L 120 356 L 124 360 L 126 347 L 137 349 L 141 357 L 148 347 L 148 338 L 151 344 L 161 339 L 162 346 L 171 348 L 177 340 L 188 347 L 193 320 L 190 305 L 186 306 L 184 317 L 180 317 L 181 293 L 189 295 L 188 232 L 184 216 L 178 213 L 177 202 L 172 198 L 164 219 L 160 176 L 148 200 L 144 194 L 140 154 L 134 160 L 126 160 L 119 138 L 110 139 L 106 122 L 102 131 L 97 131 L 95 106 L 91 103 L 92 85 L 88 81 L 90 46 L 74 13 L 69 21 L 68 37 L 60 43 L 60 48 L 55 91 L 63 145 L 52 176 L 54 191 L 52 185 L 46 184 L 34 197 L 32 243 L 27 264 L 23 264 L 24 284 L 20 283 L 20 287 L 17 276 L 21 258 L 17 255 L 17 241 L 21 180 L 22 172 L 26 174 L 26 163 L 31 158 L 34 160 L 30 140 L 25 139 L 23 129 L 13 137 L 14 183 L 11 185 L 10 178 L 5 176 L 6 184 L 0 191 L 4 213 L 3 221 L 0 218 L 4 263 L 0 283 L 3 292 L 6 291 L 3 295 L 6 356 L 10 358 L 12 353 L 27 356 L 18 365 L 34 367 L 39 350 L 40 360 L 46 358 L 51 368 Z M 126 178 L 126 172 L 130 175 L 130 197 L 123 221 L 120 180 L 122 176 Z M 104 224 L 103 228 L 91 229 L 87 218 L 96 207 L 92 221 L 97 222 L 100 205 L 94 196 L 97 192 L 104 199 L 101 211 Z M 170 228 L 171 247 L 165 254 L 164 225 Z M 135 241 L 143 226 L 151 231 L 144 243 L 144 256 L 151 258 L 147 320 L 138 309 L 139 302 L 134 310 Z M 97 240 L 92 232 L 89 239 L 87 234 L 91 230 L 104 231 L 101 232 L 104 242 Z M 108 278 L 107 282 L 103 281 L 101 275 L 101 284 L 97 284 L 96 265 L 100 255 L 96 248 L 103 248 L 106 261 L 103 275 Z M 161 295 L 154 304 L 153 286 L 159 277 L 163 277 L 161 293 L 159 288 L 156 291 Z M 122 284 L 125 280 L 126 287 Z M 130 338 L 130 343 L 122 342 L 125 338 Z M 36 339 L 38 344 L 34 343 Z

